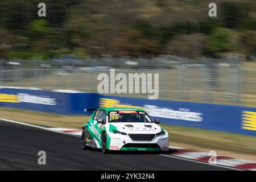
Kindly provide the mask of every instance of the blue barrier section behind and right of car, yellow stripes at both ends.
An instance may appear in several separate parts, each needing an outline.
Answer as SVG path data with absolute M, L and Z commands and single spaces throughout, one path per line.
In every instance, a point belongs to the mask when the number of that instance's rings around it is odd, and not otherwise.
M 152 119 L 177 126 L 198 127 L 256 136 L 256 108 L 193 102 L 101 96 L 101 106 L 142 107 Z

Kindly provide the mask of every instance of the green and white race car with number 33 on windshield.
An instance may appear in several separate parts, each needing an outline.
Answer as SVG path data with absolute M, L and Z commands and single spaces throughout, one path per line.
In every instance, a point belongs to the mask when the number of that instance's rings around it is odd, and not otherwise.
M 82 126 L 81 147 L 117 151 L 168 151 L 168 132 L 142 109 L 101 107 Z

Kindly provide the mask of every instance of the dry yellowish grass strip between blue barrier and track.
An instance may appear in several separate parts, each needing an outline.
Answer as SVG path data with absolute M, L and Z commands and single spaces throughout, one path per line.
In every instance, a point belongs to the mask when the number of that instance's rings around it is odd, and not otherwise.
M 44 126 L 81 129 L 89 116 L 48 114 L 0 107 L 0 118 Z M 170 145 L 192 150 L 216 151 L 219 155 L 256 161 L 256 137 L 192 127 L 161 126 L 170 135 Z

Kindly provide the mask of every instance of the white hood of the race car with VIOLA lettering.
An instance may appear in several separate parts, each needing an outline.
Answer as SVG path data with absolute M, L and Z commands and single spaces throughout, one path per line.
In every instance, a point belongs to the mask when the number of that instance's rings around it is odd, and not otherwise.
M 118 131 L 129 134 L 156 134 L 161 131 L 161 127 L 155 123 L 134 123 L 134 122 L 117 122 L 109 123 L 117 128 Z

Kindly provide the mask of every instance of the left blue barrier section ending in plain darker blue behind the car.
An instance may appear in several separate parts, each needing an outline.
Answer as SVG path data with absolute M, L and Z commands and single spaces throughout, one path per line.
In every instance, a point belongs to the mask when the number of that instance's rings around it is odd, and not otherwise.
M 98 94 L 0 88 L 0 106 L 57 114 L 85 114 L 84 109 L 98 107 Z

